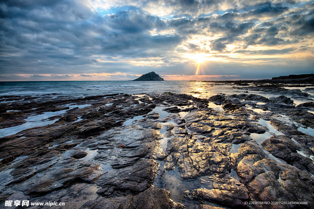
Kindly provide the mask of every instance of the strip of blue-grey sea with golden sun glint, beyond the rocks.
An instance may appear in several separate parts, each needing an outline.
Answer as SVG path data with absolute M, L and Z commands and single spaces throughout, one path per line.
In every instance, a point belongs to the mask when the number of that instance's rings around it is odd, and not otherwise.
M 249 84 L 254 86 L 253 83 Z M 142 94 L 168 91 L 189 94 L 199 98 L 209 98 L 216 94 L 231 95 L 240 93 L 259 94 L 267 98 L 280 96 L 263 94 L 263 92 L 258 91 L 232 89 L 232 86 L 234 86 L 233 83 L 202 81 L 14 81 L 0 82 L 0 97 L 10 95 L 37 96 L 53 93 L 62 94 L 62 96 L 82 97 L 113 93 Z M 297 99 L 294 99 L 294 101 L 295 104 L 305 102 Z

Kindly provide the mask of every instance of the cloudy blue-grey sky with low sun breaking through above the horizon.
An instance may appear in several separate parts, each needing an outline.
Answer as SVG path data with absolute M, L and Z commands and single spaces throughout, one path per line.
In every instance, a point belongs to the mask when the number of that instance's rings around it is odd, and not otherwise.
M 314 72 L 314 0 L 3 0 L 0 81 Z

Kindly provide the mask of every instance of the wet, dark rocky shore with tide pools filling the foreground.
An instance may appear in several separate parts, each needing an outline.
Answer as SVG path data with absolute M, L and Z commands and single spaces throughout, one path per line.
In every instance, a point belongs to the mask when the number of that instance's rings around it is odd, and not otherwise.
M 314 103 L 231 88 L 242 93 L 1 97 L 1 207 L 313 208 Z

